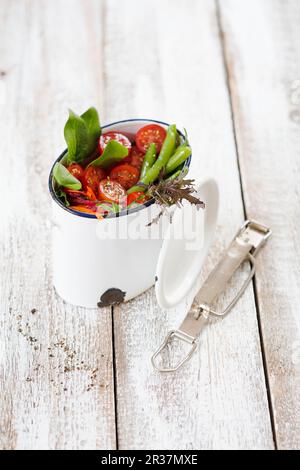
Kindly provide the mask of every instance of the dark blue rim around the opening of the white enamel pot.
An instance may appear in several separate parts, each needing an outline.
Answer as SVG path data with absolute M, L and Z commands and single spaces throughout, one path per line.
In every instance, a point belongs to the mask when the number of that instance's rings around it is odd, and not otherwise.
M 117 124 L 124 124 L 126 122 L 133 122 L 133 121 L 134 122 L 142 122 L 142 121 L 143 122 L 154 122 L 156 124 L 163 124 L 164 126 L 169 126 L 170 125 L 167 122 L 157 121 L 156 119 L 137 118 L 137 119 L 123 119 L 122 121 L 111 122 L 110 124 L 105 124 L 105 126 L 102 126 L 101 129 L 106 129 L 107 127 L 111 127 L 111 126 L 114 126 L 114 125 L 117 125 Z M 180 130 L 177 129 L 177 132 L 181 137 L 185 138 L 185 136 L 183 135 L 183 133 Z M 66 153 L 67 153 L 67 149 L 65 149 L 59 155 L 59 157 L 55 160 L 55 162 L 53 163 L 52 168 L 50 170 L 48 186 L 49 186 L 49 191 L 50 191 L 51 197 L 62 209 L 69 212 L 70 214 L 73 214 L 73 215 L 76 215 L 76 216 L 79 216 L 79 217 L 85 217 L 86 219 L 97 219 L 97 217 L 93 214 L 86 214 L 84 212 L 79 212 L 79 211 L 75 211 L 73 209 L 69 209 L 67 206 L 65 206 L 63 204 L 62 201 L 59 200 L 59 198 L 55 194 L 55 191 L 54 191 L 54 188 L 53 188 L 53 168 L 54 168 L 55 164 L 57 162 L 59 162 L 65 156 Z M 192 160 L 192 155 L 190 155 L 189 158 L 185 161 L 184 166 L 182 167 L 182 169 L 183 168 L 189 168 L 189 166 L 191 164 L 191 160 Z M 149 201 L 145 202 L 144 204 L 140 204 L 136 207 L 132 207 L 129 210 L 125 209 L 123 211 L 117 212 L 116 214 L 109 214 L 109 215 L 105 216 L 104 218 L 105 219 L 113 219 L 115 217 L 122 217 L 124 215 L 130 215 L 130 214 L 133 214 L 134 212 L 138 212 L 140 210 L 143 210 L 146 207 L 149 207 L 154 203 L 155 203 L 155 199 L 152 198 L 152 199 L 149 199 Z

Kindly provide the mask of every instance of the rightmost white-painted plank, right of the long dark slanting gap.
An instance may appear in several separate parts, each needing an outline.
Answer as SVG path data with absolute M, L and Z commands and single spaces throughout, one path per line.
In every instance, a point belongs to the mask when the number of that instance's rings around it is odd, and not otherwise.
M 256 285 L 277 443 L 299 449 L 300 4 L 225 0 L 220 12 L 247 214 L 273 229 Z

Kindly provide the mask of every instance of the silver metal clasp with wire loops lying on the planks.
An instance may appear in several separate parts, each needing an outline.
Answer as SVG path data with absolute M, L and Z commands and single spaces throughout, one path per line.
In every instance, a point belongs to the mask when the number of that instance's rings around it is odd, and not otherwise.
M 268 227 L 254 220 L 247 220 L 241 226 L 220 262 L 202 285 L 179 329 L 170 331 L 162 345 L 152 356 L 152 365 L 156 370 L 160 372 L 175 372 L 182 367 L 196 350 L 198 346 L 197 338 L 209 317 L 211 315 L 224 317 L 230 312 L 253 278 L 255 274 L 255 256 L 271 236 L 271 233 Z M 249 261 L 251 268 L 247 279 L 229 305 L 221 312 L 215 311 L 211 306 L 212 302 L 224 291 L 229 279 L 245 261 Z M 191 349 L 187 355 L 173 367 L 162 367 L 157 363 L 157 358 L 173 338 L 191 344 Z

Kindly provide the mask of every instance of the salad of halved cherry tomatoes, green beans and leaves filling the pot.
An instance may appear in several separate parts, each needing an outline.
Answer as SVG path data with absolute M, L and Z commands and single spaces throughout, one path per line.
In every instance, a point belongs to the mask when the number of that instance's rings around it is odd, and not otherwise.
M 183 199 L 204 207 L 185 179 L 192 150 L 176 125 L 151 123 L 135 135 L 102 132 L 95 108 L 73 111 L 64 128 L 68 146 L 52 171 L 56 197 L 68 209 L 98 219 L 155 199 L 165 207 Z

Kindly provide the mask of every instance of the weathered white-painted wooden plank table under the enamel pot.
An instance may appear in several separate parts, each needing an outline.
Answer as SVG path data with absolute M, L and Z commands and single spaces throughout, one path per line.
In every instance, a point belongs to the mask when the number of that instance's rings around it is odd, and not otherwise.
M 299 23 L 297 0 L 1 0 L 2 449 L 299 448 Z M 274 232 L 173 375 L 150 357 L 188 299 L 85 310 L 52 288 L 47 176 L 91 105 L 188 129 L 221 192 L 203 276 L 245 217 Z

